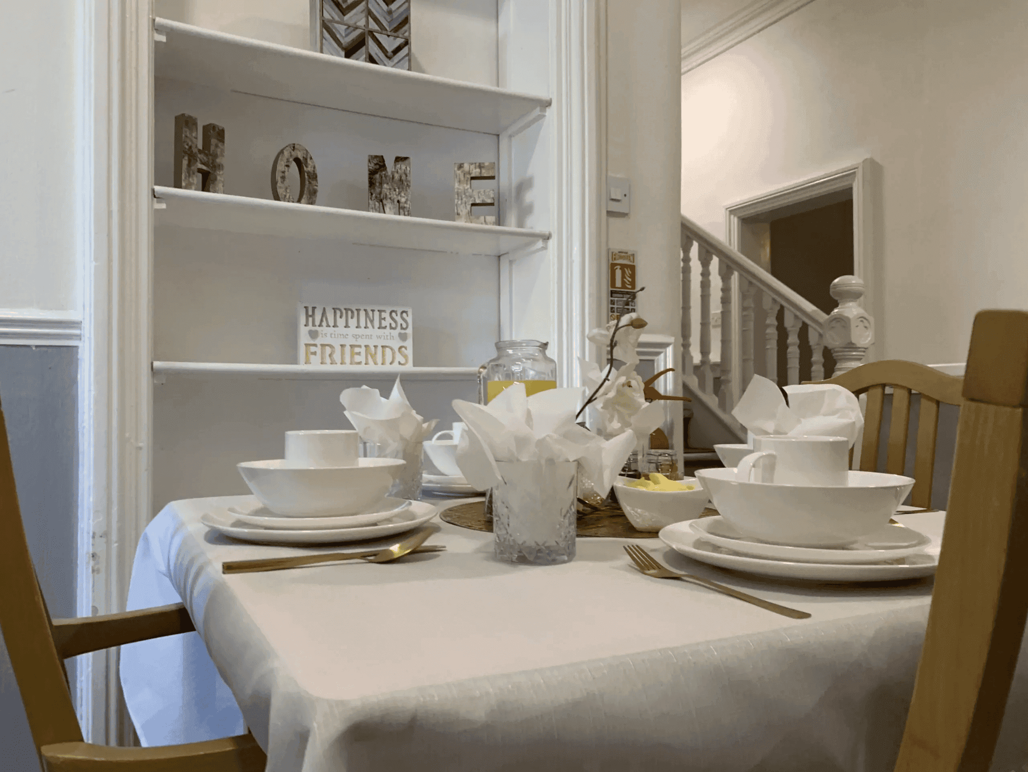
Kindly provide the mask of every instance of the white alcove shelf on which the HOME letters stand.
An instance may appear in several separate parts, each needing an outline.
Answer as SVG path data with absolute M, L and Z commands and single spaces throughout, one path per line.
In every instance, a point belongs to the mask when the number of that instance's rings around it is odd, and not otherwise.
M 373 247 L 461 255 L 505 255 L 537 247 L 550 237 L 545 230 L 379 215 L 199 190 L 156 186 L 153 194 L 164 205 L 163 209 L 158 205 L 154 213 L 156 225 L 258 235 L 334 238 Z

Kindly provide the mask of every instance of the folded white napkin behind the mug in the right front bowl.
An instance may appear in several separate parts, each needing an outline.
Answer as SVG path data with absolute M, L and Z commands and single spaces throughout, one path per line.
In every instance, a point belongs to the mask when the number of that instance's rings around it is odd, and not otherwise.
M 732 415 L 754 435 L 845 437 L 852 447 L 864 429 L 856 396 L 835 383 L 777 384 L 760 375 L 749 381 Z

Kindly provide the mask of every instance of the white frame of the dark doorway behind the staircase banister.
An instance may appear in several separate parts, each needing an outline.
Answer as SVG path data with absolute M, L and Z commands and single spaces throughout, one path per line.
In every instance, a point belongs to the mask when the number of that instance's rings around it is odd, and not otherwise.
M 872 198 L 872 171 L 874 161 L 871 158 L 850 163 L 825 174 L 810 177 L 795 182 L 785 187 L 761 193 L 725 207 L 725 236 L 728 245 L 738 250 L 742 245 L 742 228 L 747 219 L 766 215 L 775 210 L 784 209 L 796 204 L 820 198 L 830 193 L 849 190 L 853 198 L 853 275 L 859 277 L 865 283 L 865 296 L 861 304 L 873 319 L 881 319 L 881 310 L 877 303 L 881 293 L 877 282 L 880 277 L 875 249 L 874 208 Z M 732 302 L 734 307 L 741 307 L 738 279 L 734 280 Z M 733 329 L 733 352 L 739 358 L 741 367 L 741 352 L 739 350 L 738 325 Z M 873 362 L 875 352 L 882 351 L 882 330 L 875 329 L 875 345 L 868 352 L 868 362 Z M 736 363 L 733 362 L 733 368 Z M 733 369 L 733 372 L 739 372 Z

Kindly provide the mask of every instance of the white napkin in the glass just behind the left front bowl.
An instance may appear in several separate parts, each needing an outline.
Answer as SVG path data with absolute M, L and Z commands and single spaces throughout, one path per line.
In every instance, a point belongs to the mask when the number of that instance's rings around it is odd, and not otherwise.
M 397 376 L 390 398 L 382 399 L 377 389 L 346 389 L 339 395 L 345 415 L 365 442 L 382 445 L 386 452 L 398 452 L 424 442 L 436 428 L 437 420 L 425 421 L 407 401 Z

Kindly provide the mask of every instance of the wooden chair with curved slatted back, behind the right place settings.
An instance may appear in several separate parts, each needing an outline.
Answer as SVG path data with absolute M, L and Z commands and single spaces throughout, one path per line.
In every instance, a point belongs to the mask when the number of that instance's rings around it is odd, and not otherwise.
M 885 471 L 904 474 L 907 461 L 907 432 L 910 429 L 910 395 L 921 395 L 921 408 L 917 421 L 917 454 L 914 456 L 914 489 L 910 503 L 915 507 L 931 506 L 931 481 L 935 466 L 935 437 L 939 432 L 939 404 L 960 405 L 963 378 L 946 375 L 926 365 L 903 360 L 884 360 L 854 367 L 829 380 L 818 383 L 837 383 L 853 394 L 868 395 L 864 419 L 864 444 L 860 446 L 860 469 L 874 472 L 878 469 L 879 433 L 882 428 L 882 408 L 885 387 L 892 387 L 892 418 L 889 421 L 888 450 Z

